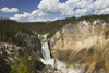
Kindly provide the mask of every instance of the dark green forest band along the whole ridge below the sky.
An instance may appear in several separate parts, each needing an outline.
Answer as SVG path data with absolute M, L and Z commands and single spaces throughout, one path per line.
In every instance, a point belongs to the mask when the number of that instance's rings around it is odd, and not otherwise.
M 94 21 L 97 19 L 105 20 L 109 22 L 109 14 L 102 15 L 86 15 L 82 17 L 68 17 L 63 20 L 57 20 L 53 22 L 26 22 L 20 23 L 9 19 L 0 19 L 0 40 L 7 42 L 14 42 L 19 46 L 26 46 L 25 41 L 21 41 L 15 37 L 17 32 L 27 33 L 33 35 L 32 31 L 38 34 L 49 33 L 48 38 L 52 37 L 55 33 L 62 28 L 62 26 L 69 23 L 76 23 L 82 20 Z

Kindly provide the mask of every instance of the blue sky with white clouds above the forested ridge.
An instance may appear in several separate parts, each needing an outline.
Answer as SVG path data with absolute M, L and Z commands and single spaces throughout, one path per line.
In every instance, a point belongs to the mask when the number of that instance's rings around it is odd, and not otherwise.
M 0 0 L 0 17 L 17 22 L 46 22 L 93 14 L 109 14 L 109 0 Z

